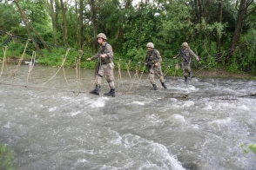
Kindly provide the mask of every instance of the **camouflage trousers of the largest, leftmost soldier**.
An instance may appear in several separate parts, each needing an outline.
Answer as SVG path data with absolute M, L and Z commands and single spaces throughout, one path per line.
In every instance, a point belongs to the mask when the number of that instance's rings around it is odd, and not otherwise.
M 95 84 L 100 86 L 102 82 L 102 77 L 106 75 L 106 81 L 109 83 L 110 88 L 115 88 L 115 83 L 114 83 L 114 69 L 115 65 L 113 62 L 107 63 L 107 64 L 102 64 L 100 68 L 98 69 L 98 74 L 96 75 L 95 78 Z

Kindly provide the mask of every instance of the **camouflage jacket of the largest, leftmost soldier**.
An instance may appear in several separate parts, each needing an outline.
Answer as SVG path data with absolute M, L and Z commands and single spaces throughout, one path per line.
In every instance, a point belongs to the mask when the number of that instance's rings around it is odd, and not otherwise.
M 106 56 L 103 58 L 101 57 L 99 62 L 101 62 L 101 64 L 107 64 L 113 61 L 113 51 L 112 51 L 112 47 L 111 44 L 107 43 L 107 42 L 103 42 L 102 45 L 100 45 L 98 53 L 94 56 L 91 57 L 91 60 L 95 60 L 97 58 L 99 58 L 99 55 L 103 55 L 105 54 Z

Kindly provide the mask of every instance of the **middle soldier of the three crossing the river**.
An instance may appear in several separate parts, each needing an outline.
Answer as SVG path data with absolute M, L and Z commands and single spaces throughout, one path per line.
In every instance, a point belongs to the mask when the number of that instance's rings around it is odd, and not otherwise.
M 153 88 L 151 90 L 157 90 L 157 85 L 154 80 L 154 73 L 158 75 L 159 81 L 162 83 L 162 86 L 166 89 L 164 75 L 161 69 L 162 57 L 157 49 L 154 49 L 154 44 L 152 42 L 148 42 L 146 44 L 147 53 L 145 56 L 145 65 L 149 70 L 149 78 L 152 83 Z

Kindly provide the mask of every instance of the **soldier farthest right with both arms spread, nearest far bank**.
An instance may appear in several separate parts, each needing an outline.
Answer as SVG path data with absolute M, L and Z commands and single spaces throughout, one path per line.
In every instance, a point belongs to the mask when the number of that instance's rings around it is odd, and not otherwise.
M 197 61 L 199 61 L 199 56 L 196 56 L 192 49 L 188 46 L 187 42 L 183 42 L 181 44 L 182 49 L 179 49 L 179 54 L 174 56 L 173 59 L 181 57 L 181 69 L 183 71 L 183 75 L 185 77 L 185 82 L 187 82 L 187 76 L 191 76 L 191 68 L 190 68 L 190 56 L 194 56 Z

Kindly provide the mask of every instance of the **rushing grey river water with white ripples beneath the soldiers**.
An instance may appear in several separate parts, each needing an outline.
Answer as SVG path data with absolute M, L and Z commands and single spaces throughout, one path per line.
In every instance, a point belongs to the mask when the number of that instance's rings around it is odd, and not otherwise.
M 106 97 L 106 82 L 89 94 L 92 69 L 79 83 L 76 69 L 11 70 L 0 77 L 0 142 L 18 169 L 256 169 L 240 146 L 256 143 L 255 97 L 240 97 L 256 93 L 255 81 L 166 76 L 168 89 L 152 91 L 147 75 L 123 71 Z

